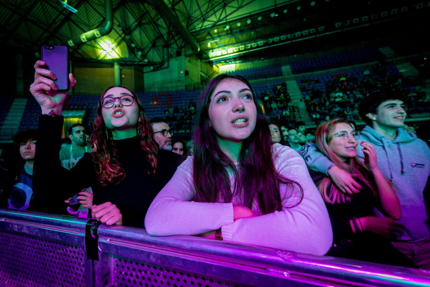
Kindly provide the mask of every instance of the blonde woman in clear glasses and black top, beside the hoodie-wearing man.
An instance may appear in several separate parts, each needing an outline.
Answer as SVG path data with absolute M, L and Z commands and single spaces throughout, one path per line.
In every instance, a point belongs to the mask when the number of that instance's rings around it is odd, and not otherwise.
M 402 215 L 399 199 L 379 170 L 373 145 L 361 142 L 364 163 L 357 158 L 358 135 L 340 118 L 322 123 L 315 132 L 322 153 L 362 186 L 359 193 L 346 194 L 329 176 L 313 176 L 333 227 L 334 241 L 328 255 L 414 267 L 388 240 L 402 232 L 402 225 L 395 221 Z M 387 217 L 374 216 L 375 207 Z

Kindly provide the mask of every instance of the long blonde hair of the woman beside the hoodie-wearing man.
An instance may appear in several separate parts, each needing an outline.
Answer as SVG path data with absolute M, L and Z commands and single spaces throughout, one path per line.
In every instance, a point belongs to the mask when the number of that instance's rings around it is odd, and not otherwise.
M 356 156 L 347 159 L 347 161 L 344 162 L 330 148 L 330 142 L 333 139 L 332 132 L 337 123 L 347 123 L 351 126 L 350 122 L 341 118 L 328 120 L 325 123 L 320 124 L 315 131 L 316 145 L 318 145 L 319 150 L 326 157 L 328 157 L 337 167 L 341 168 L 342 170 L 346 170 L 348 173 L 351 174 L 351 176 L 360 179 L 362 182 L 368 185 L 372 189 L 372 192 L 375 197 L 377 197 L 377 190 L 370 181 L 373 179 L 373 176 L 370 173 L 370 170 L 362 162 L 362 160 L 359 160 L 359 157 Z M 329 204 L 351 201 L 351 196 L 340 191 L 337 186 L 332 182 L 332 179 L 330 179 L 328 176 L 324 177 L 319 182 L 317 188 L 324 201 Z

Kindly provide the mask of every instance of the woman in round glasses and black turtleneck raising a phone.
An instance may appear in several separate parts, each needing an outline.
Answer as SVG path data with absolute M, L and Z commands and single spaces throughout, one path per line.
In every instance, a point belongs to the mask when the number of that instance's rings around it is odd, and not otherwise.
M 151 201 L 169 181 L 177 157 L 158 151 L 149 120 L 135 93 L 124 86 L 111 86 L 101 95 L 90 143 L 74 168 L 61 168 L 59 148 L 68 91 L 58 91 L 55 75 L 37 61 L 30 91 L 40 104 L 40 142 L 34 164 L 36 211 L 49 212 L 83 188 L 92 186 L 92 217 L 108 225 L 144 227 Z M 69 75 L 70 88 L 76 84 Z M 39 140 L 39 139 L 38 139 Z M 46 208 L 44 208 L 46 207 Z

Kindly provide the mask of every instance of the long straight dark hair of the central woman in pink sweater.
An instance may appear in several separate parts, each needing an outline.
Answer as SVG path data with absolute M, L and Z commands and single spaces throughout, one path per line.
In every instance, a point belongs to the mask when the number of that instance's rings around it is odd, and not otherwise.
M 258 204 L 262 214 L 282 210 L 280 183 L 297 186 L 301 196 L 303 190 L 298 182 L 286 179 L 276 170 L 269 124 L 254 96 L 252 98 L 257 108 L 257 120 L 254 131 L 242 143 L 239 164 L 236 166 L 218 145 L 216 132 L 210 126 L 208 110 L 212 93 L 218 84 L 226 79 L 239 80 L 252 91 L 245 78 L 227 74 L 214 77 L 203 89 L 197 105 L 193 131 L 193 182 L 196 190 L 193 200 L 229 203 L 234 197 L 242 200 L 241 204 L 250 209 Z M 233 173 L 235 182 L 233 192 L 230 189 L 229 171 Z

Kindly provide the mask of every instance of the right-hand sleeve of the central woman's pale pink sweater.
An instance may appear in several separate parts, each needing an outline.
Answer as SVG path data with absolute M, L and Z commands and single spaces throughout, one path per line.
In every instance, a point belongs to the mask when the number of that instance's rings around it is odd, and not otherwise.
M 257 244 L 300 253 L 324 255 L 332 240 L 332 225 L 322 197 L 307 171 L 303 158 L 292 148 L 274 145 L 276 169 L 288 179 L 298 182 L 303 199 L 297 190 L 281 185 L 283 210 L 262 216 L 238 219 L 222 227 L 225 240 Z

